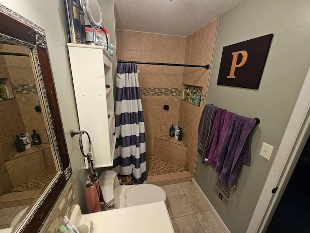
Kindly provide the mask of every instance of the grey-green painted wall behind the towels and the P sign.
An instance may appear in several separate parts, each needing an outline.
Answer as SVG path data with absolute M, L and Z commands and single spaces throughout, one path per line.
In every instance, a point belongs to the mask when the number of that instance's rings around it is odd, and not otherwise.
M 230 210 L 213 192 L 212 166 L 198 158 L 194 178 L 232 233 L 244 233 L 310 66 L 310 2 L 247 0 L 218 19 L 206 103 L 243 116 L 259 117 L 251 145 L 250 166 L 242 166 Z M 258 90 L 217 85 L 224 46 L 269 33 L 274 37 Z M 271 160 L 259 156 L 262 143 L 274 146 Z

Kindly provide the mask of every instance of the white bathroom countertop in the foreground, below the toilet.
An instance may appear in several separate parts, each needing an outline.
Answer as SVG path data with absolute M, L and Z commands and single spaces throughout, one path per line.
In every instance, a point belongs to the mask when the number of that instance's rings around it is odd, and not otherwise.
M 87 215 L 76 205 L 70 219 L 76 226 L 92 220 L 92 233 L 174 233 L 163 201 Z

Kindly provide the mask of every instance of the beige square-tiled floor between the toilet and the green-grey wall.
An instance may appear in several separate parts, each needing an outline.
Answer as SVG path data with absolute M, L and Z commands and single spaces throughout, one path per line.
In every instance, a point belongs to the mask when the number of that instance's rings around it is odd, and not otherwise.
M 192 182 L 161 187 L 175 233 L 224 233 Z

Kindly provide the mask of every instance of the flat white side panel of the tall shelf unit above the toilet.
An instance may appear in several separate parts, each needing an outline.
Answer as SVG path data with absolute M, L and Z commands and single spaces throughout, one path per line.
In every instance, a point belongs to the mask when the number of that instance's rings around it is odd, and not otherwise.
M 69 46 L 79 127 L 91 137 L 94 166 L 112 166 L 104 54 L 102 49 L 85 47 Z M 84 153 L 87 148 L 84 146 Z

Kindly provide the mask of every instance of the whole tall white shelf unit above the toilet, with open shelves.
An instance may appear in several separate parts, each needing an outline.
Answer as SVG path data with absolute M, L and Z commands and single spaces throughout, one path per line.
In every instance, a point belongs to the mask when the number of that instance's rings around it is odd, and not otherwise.
M 91 137 L 93 165 L 112 166 L 116 143 L 112 58 L 103 46 L 67 45 L 79 128 Z M 106 84 L 110 87 L 106 88 Z M 82 137 L 82 142 L 86 154 L 88 138 Z M 86 159 L 85 168 L 88 168 Z

